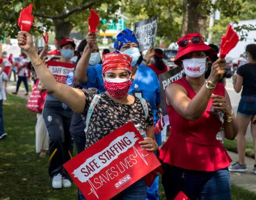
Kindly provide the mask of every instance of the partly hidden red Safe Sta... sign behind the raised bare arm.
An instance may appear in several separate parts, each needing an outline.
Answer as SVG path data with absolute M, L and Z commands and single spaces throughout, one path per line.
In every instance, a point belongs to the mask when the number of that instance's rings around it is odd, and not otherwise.
M 49 60 L 47 67 L 59 83 L 66 83 L 66 76 L 74 70 L 74 64 Z

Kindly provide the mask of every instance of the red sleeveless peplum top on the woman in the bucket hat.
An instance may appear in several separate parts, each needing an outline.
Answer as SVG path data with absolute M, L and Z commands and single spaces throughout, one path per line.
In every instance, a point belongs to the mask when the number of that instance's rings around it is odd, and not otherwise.
M 187 91 L 187 96 L 193 99 L 194 90 L 185 78 L 175 81 Z M 225 96 L 225 88 L 218 83 L 213 92 Z M 183 118 L 172 106 L 166 105 L 170 121 L 170 136 L 160 151 L 160 159 L 169 165 L 179 168 L 212 172 L 226 168 L 232 159 L 227 154 L 221 141 L 216 140 L 216 134 L 221 128 L 221 122 L 212 115 L 212 99 L 209 100 L 204 114 L 196 121 Z

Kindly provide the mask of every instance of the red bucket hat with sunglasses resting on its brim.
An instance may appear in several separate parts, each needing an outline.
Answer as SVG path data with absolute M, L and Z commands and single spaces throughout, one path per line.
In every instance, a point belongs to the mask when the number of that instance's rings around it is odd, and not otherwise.
M 179 49 L 175 57 L 174 63 L 180 66 L 182 57 L 190 52 L 203 51 L 210 58 L 214 55 L 215 50 L 209 47 L 202 40 L 202 35 L 198 33 L 186 34 L 177 40 Z

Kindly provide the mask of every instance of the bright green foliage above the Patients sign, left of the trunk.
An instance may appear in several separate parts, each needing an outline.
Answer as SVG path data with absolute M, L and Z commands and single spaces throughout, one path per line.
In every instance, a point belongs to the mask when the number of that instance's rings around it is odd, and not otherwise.
M 181 0 L 122 0 L 122 12 L 128 16 L 129 26 L 156 15 L 159 38 L 176 41 L 180 37 L 183 13 Z

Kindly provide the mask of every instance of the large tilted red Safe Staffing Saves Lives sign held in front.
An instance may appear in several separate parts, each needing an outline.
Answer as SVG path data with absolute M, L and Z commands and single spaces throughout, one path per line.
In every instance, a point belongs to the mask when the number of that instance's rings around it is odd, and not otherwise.
M 129 122 L 99 140 L 64 167 L 86 199 L 111 199 L 161 165 L 140 147 L 138 130 Z

